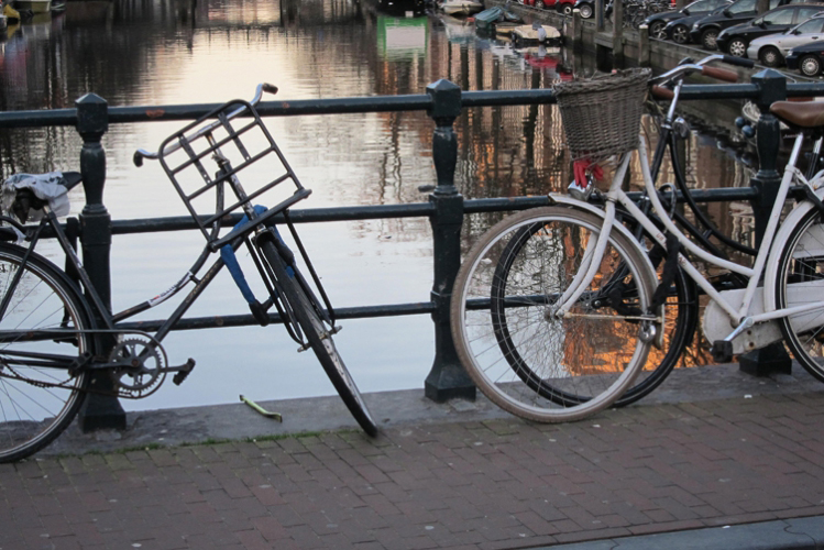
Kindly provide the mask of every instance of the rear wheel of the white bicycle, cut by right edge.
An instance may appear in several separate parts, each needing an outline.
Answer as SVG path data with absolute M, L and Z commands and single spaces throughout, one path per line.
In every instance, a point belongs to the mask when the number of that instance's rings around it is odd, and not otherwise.
M 778 261 L 776 306 L 818 301 L 824 288 L 824 223 L 812 209 L 790 232 Z M 795 360 L 824 382 L 824 311 L 780 320 L 781 332 Z

